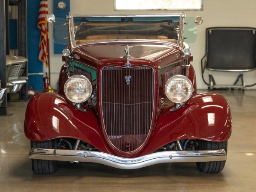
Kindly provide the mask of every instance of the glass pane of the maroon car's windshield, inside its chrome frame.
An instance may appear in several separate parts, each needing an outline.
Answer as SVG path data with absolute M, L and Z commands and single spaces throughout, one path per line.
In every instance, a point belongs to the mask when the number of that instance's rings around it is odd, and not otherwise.
M 76 44 L 114 39 L 150 39 L 177 44 L 180 17 L 73 17 Z

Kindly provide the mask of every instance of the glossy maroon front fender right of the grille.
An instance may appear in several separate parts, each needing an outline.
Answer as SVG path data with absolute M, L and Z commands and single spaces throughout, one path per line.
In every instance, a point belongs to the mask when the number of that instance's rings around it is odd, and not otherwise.
M 201 93 L 192 96 L 184 107 L 169 112 L 171 108 L 165 108 L 160 113 L 154 134 L 140 155 L 151 153 L 175 140 L 223 142 L 231 135 L 230 107 L 219 94 Z

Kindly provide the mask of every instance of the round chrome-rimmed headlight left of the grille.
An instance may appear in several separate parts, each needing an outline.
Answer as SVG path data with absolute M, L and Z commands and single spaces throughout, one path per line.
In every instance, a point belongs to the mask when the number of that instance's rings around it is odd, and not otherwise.
M 92 94 L 92 84 L 85 76 L 71 76 L 64 85 L 67 98 L 74 103 L 82 103 Z

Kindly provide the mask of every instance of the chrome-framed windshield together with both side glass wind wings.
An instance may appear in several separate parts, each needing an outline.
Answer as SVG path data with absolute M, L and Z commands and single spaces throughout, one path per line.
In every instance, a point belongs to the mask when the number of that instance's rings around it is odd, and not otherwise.
M 53 27 L 54 42 L 67 44 L 67 19 L 56 18 Z M 185 23 L 184 41 L 195 41 L 195 18 L 187 18 Z M 72 16 L 70 32 L 73 44 L 92 41 L 111 40 L 159 40 L 173 44 L 179 43 L 180 29 L 183 25 L 181 15 L 136 15 L 136 16 Z M 188 33 L 189 32 L 189 33 Z

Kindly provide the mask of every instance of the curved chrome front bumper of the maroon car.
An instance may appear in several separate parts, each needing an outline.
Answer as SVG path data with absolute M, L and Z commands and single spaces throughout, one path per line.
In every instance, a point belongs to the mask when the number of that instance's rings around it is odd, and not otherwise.
M 142 157 L 122 158 L 97 151 L 32 148 L 30 159 L 100 163 L 118 169 L 139 169 L 158 163 L 206 162 L 227 160 L 224 149 L 215 151 L 163 151 Z

